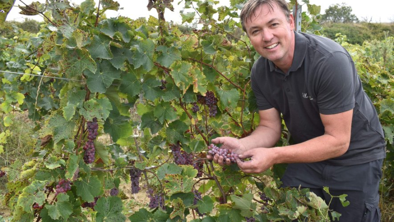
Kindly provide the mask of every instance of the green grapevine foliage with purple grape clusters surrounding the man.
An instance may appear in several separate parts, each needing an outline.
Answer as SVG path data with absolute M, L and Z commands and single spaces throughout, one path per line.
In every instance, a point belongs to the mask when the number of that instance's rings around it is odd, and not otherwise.
M 244 137 L 259 123 L 250 89 L 250 69 L 259 55 L 246 35 L 232 35 L 240 28 L 243 0 L 221 7 L 214 0 L 185 0 L 195 11 L 181 14 L 183 22 L 198 17 L 200 24 L 191 34 L 164 21 L 172 1 L 151 5 L 159 19 L 136 20 L 106 18 L 106 10 L 120 5 L 99 2 L 99 7 L 94 0 L 34 2 L 22 9 L 45 18 L 40 32 L 0 37 L 0 155 L 12 149 L 7 138 L 18 127 L 17 113 L 28 113 L 39 135 L 31 140 L 33 159 L 0 169 L 10 220 L 326 221 L 328 215 L 340 216 L 308 190 L 278 189 L 284 166 L 246 175 L 236 164 L 221 167 L 206 159 L 212 138 Z M 318 6 L 303 3 L 317 11 Z M 303 12 L 304 32 L 318 33 L 314 14 Z M 382 190 L 392 195 L 394 38 L 362 46 L 348 44 L 346 36 L 336 40 L 356 61 L 385 129 Z M 103 135 L 111 142 L 96 138 Z M 290 137 L 283 127 L 278 145 Z M 131 184 L 133 193 L 146 191 L 149 206 L 126 215 L 121 183 Z M 333 198 L 346 205 L 345 197 Z

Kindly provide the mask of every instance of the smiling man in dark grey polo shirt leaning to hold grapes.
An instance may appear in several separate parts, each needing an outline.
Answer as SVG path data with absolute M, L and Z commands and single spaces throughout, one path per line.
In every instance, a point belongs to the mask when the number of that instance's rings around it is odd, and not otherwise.
M 284 0 L 249 0 L 240 18 L 261 55 L 251 73 L 260 124 L 245 138 L 212 142 L 250 158 L 237 161 L 245 173 L 289 163 L 283 186 L 309 188 L 327 202 L 323 187 L 332 195 L 348 194 L 349 206 L 344 208 L 338 198 L 330 203 L 342 214 L 340 221 L 380 221 L 384 134 L 349 53 L 328 38 L 295 32 Z M 274 147 L 281 136 L 281 114 L 295 145 Z M 208 158 L 230 164 L 218 155 Z

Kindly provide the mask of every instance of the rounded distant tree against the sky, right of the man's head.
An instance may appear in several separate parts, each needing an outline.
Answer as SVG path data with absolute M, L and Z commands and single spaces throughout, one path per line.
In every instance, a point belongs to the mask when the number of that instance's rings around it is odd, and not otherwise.
M 352 14 L 352 7 L 345 3 L 332 4 L 325 12 L 326 13 L 322 15 L 323 22 L 352 23 L 359 21 L 357 16 Z

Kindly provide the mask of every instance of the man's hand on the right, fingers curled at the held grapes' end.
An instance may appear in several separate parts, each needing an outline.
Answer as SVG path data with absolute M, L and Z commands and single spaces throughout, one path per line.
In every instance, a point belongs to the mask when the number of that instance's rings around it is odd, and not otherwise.
M 237 164 L 244 173 L 261 173 L 275 163 L 275 156 L 275 148 L 255 148 L 239 155 Z M 247 158 L 250 160 L 242 161 Z

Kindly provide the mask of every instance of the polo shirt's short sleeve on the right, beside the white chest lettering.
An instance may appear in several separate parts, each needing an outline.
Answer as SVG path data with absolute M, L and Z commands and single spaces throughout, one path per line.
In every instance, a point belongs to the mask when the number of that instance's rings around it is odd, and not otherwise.
M 355 106 L 357 73 L 349 55 L 333 52 L 318 71 L 317 103 L 321 114 L 336 114 Z

